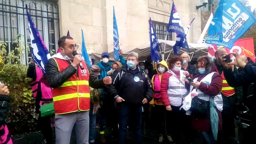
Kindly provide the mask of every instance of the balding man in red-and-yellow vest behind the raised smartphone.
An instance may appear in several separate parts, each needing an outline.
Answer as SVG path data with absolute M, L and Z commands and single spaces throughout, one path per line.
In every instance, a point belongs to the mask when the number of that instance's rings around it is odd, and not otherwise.
M 225 49 L 218 49 L 215 52 L 215 66 L 218 69 L 219 75 L 222 77 L 222 89 L 221 96 L 223 98 L 223 111 L 222 111 L 222 120 L 223 120 L 223 138 L 225 143 L 235 144 L 235 121 L 234 121 L 234 111 L 235 105 L 238 102 L 238 99 L 243 97 L 243 88 L 242 87 L 230 87 L 227 83 L 223 70 L 221 60 L 222 56 L 227 53 Z M 226 62 L 231 62 L 230 55 L 226 55 Z M 231 65 L 232 71 L 237 74 L 238 70 L 235 66 Z

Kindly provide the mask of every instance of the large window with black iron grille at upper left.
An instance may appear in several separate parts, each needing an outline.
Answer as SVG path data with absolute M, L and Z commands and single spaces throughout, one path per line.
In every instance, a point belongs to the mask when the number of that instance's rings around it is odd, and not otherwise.
M 6 51 L 10 52 L 18 47 L 15 41 L 18 34 L 24 35 L 21 40 L 25 43 L 26 64 L 31 58 L 27 53 L 27 44 L 31 46 L 31 39 L 28 29 L 28 18 L 25 6 L 35 26 L 44 40 L 49 51 L 57 50 L 57 39 L 59 33 L 59 7 L 49 0 L 0 0 L 0 41 L 7 43 Z

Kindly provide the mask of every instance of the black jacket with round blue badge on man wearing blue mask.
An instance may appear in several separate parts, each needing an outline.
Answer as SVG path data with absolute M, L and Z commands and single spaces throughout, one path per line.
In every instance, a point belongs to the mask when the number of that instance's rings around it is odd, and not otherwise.
M 137 66 L 136 73 L 132 72 L 127 65 L 116 69 L 111 76 L 112 84 L 107 86 L 107 93 L 113 98 L 122 97 L 125 100 L 122 102 L 124 104 L 142 105 L 144 98 L 151 101 L 153 88 L 149 76 L 139 66 Z M 140 78 L 139 82 L 134 81 L 135 76 Z

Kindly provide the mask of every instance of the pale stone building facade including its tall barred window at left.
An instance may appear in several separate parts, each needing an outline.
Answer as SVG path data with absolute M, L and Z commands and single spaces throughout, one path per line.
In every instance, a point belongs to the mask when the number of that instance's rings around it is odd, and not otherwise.
M 119 31 L 120 47 L 124 52 L 149 42 L 149 18 L 158 39 L 165 39 L 172 3 L 175 3 L 182 25 L 196 18 L 188 32 L 189 43 L 196 43 L 201 34 L 203 0 L 0 0 L 0 41 L 7 43 L 7 52 L 18 46 L 16 35 L 31 44 L 25 5 L 50 51 L 57 50 L 57 40 L 70 32 L 81 52 L 81 29 L 88 54 L 113 51 L 113 6 Z M 168 34 L 175 41 L 175 34 Z M 24 63 L 31 58 L 25 51 Z

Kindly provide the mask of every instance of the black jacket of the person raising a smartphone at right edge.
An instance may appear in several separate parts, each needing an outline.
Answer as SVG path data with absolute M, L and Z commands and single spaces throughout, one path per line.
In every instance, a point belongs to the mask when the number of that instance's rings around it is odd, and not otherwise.
M 231 68 L 224 69 L 224 76 L 231 87 L 240 87 L 243 85 L 251 84 L 256 82 L 256 63 L 246 64 L 244 67 L 244 71 L 241 73 L 235 74 Z M 252 122 L 251 128 L 252 130 L 256 129 L 256 84 L 253 85 L 253 96 L 251 99 L 250 112 L 252 113 Z M 249 133 L 253 133 L 249 132 Z M 253 140 L 253 136 L 252 136 Z

